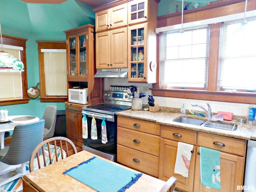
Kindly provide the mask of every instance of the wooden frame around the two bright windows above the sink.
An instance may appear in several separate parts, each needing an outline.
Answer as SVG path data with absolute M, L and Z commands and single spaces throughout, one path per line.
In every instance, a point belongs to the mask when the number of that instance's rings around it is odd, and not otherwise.
M 222 4 L 222 5 L 220 5 Z M 223 4 L 219 6 L 214 5 L 212 8 L 198 8 L 198 12 L 185 12 L 183 20 L 186 22 L 193 22 L 197 20 L 204 20 L 207 18 L 214 18 L 236 13 L 244 12 L 244 1 L 237 1 L 234 4 Z M 236 7 L 236 9 L 234 9 Z M 227 10 L 229 10 L 227 12 Z M 248 1 L 247 11 L 255 10 L 255 4 Z M 167 16 L 158 17 L 158 27 L 171 26 L 181 24 L 181 13 L 169 14 Z M 256 93 L 249 92 L 224 92 L 218 90 L 218 64 L 220 63 L 219 54 L 220 48 L 220 30 L 223 23 L 210 24 L 210 44 L 209 44 L 209 57 L 208 57 L 208 86 L 207 90 L 180 90 L 180 89 L 164 89 L 161 88 L 161 33 L 158 34 L 158 63 L 157 68 L 157 83 L 152 86 L 152 94 L 154 96 L 164 96 L 173 98 L 186 98 L 197 100 L 211 100 L 218 102 L 235 102 L 235 103 L 256 103 Z M 214 43 L 211 43 L 214 42 Z

